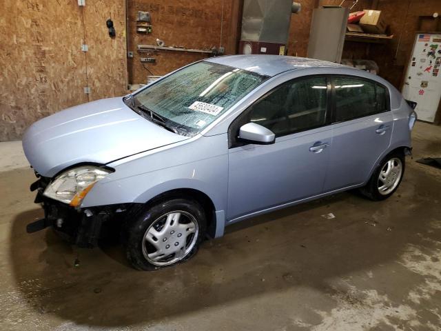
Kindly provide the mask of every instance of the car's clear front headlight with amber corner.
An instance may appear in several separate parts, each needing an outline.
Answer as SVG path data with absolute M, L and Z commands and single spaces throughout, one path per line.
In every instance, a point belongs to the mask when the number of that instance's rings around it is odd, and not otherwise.
M 76 207 L 93 185 L 110 172 L 93 165 L 70 169 L 57 176 L 44 190 L 43 195 Z

